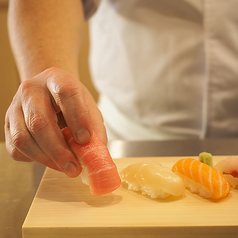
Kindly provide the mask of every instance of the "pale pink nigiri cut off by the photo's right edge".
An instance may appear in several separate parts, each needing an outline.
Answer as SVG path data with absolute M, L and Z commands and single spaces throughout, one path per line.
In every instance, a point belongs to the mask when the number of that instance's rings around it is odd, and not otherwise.
M 229 156 L 220 160 L 215 164 L 214 168 L 224 174 L 232 188 L 238 188 L 238 157 Z

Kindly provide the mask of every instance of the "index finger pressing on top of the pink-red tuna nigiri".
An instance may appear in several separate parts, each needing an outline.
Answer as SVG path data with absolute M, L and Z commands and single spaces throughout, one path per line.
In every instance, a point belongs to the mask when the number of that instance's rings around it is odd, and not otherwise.
M 61 69 L 51 69 L 46 85 L 75 140 L 79 144 L 88 143 L 93 131 L 83 85 Z

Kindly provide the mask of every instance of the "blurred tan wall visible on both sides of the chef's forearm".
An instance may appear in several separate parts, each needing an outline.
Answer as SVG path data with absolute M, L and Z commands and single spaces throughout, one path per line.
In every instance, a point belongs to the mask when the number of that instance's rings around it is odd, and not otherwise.
M 4 118 L 8 106 L 17 91 L 20 80 L 11 53 L 7 34 L 7 0 L 0 0 L 0 141 L 4 141 Z M 89 88 L 95 100 L 97 91 L 90 80 L 88 69 L 88 28 L 79 56 L 80 79 Z

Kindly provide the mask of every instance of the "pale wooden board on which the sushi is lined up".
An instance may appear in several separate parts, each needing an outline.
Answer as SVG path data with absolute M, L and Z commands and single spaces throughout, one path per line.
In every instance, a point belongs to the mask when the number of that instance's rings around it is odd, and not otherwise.
M 114 160 L 121 171 L 136 162 L 172 165 L 181 157 Z M 222 156 L 215 157 L 216 163 Z M 237 238 L 238 190 L 214 202 L 186 191 L 179 198 L 150 199 L 122 185 L 93 196 L 80 177 L 47 169 L 23 224 L 24 238 Z

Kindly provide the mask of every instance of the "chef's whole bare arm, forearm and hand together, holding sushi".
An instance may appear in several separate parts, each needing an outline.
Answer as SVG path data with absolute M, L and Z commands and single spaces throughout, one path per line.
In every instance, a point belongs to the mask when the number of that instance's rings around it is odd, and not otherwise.
M 76 177 L 81 166 L 60 127 L 88 143 L 94 131 L 106 144 L 103 118 L 80 82 L 81 0 L 10 0 L 9 35 L 21 85 L 6 113 L 8 153 Z

